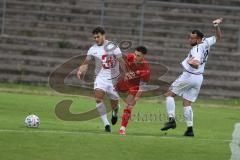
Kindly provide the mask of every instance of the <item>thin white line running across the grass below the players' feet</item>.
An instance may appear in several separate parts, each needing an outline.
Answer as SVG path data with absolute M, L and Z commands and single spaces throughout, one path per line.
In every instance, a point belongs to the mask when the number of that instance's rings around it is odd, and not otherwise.
M 53 134 L 75 134 L 75 135 L 101 135 L 101 136 L 117 136 L 117 137 L 143 137 L 143 138 L 162 138 L 162 139 L 179 139 L 179 140 L 198 140 L 198 141 L 212 141 L 212 142 L 234 142 L 234 140 L 230 139 L 215 139 L 215 138 L 189 138 L 189 137 L 176 137 L 176 136 L 167 136 L 164 134 L 159 135 L 144 135 L 144 134 L 128 134 L 126 136 L 122 136 L 119 134 L 109 134 L 109 133 L 101 133 L 101 132 L 81 132 L 81 131 L 64 131 L 64 130 L 39 130 L 39 129 L 29 129 L 29 130 L 14 130 L 14 129 L 0 129 L 1 133 L 53 133 Z

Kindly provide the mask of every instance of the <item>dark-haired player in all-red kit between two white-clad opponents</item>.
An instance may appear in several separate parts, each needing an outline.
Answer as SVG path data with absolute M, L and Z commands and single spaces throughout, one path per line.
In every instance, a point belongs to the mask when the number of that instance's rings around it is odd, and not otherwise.
M 131 117 L 132 109 L 136 101 L 142 95 L 142 88 L 150 79 L 150 70 L 147 61 L 144 59 L 147 54 L 147 48 L 138 46 L 135 53 L 129 53 L 125 57 L 128 73 L 123 79 L 120 79 L 116 85 L 118 92 L 127 92 L 125 99 L 126 106 L 123 110 L 122 124 L 119 134 L 125 135 L 125 129 Z

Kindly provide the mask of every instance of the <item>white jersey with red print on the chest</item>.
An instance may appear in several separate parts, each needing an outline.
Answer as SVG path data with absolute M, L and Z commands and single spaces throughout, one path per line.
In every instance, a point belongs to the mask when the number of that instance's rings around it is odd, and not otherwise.
M 108 80 L 120 75 L 117 58 L 121 56 L 122 53 L 119 47 L 107 40 L 102 46 L 94 44 L 87 53 L 88 60 L 95 59 L 95 75 Z

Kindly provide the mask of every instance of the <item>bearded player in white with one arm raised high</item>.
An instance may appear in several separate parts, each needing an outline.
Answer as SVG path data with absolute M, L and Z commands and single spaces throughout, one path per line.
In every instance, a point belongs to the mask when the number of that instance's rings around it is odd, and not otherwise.
M 204 67 L 208 58 L 210 47 L 221 39 L 219 24 L 222 18 L 213 21 L 215 35 L 205 38 L 199 30 L 193 30 L 189 36 L 189 43 L 192 46 L 187 58 L 181 63 L 183 73 L 176 79 L 169 90 L 164 94 L 166 96 L 166 109 L 169 121 L 165 123 L 162 131 L 170 128 L 176 128 L 175 121 L 175 101 L 174 96 L 183 98 L 184 119 L 187 124 L 187 130 L 184 136 L 194 136 L 193 133 L 193 111 L 192 102 L 195 102 L 200 91 Z

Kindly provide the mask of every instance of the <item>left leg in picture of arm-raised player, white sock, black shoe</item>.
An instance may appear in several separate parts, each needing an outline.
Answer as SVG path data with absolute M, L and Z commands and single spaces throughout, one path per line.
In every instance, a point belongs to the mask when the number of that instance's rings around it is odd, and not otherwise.
M 174 97 L 176 96 L 175 93 L 168 90 L 164 96 L 166 97 L 166 109 L 168 114 L 168 122 L 164 124 L 164 127 L 161 128 L 162 131 L 168 130 L 168 129 L 174 129 L 176 128 L 176 121 L 175 121 L 175 101 Z

